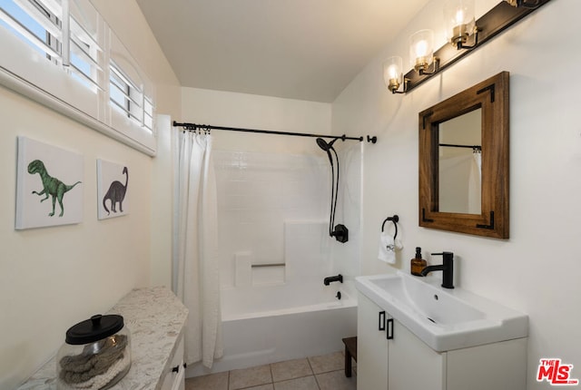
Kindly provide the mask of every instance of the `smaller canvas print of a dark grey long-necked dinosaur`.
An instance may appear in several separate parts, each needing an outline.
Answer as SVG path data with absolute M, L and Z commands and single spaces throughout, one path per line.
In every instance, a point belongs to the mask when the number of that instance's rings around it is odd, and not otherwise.
M 97 160 L 97 218 L 121 217 L 129 212 L 127 165 Z

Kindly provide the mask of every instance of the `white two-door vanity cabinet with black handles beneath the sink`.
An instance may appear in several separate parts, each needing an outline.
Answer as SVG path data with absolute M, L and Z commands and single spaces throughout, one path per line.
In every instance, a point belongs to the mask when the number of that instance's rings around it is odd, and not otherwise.
M 526 388 L 526 338 L 436 352 L 362 293 L 358 305 L 360 390 Z M 391 321 L 380 330 L 383 316 Z

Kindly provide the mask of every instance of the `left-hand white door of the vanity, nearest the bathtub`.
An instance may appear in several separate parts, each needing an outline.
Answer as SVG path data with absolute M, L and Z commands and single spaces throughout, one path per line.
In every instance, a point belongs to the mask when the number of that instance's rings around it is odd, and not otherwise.
M 387 313 L 361 293 L 357 313 L 357 388 L 387 390 L 388 339 L 385 330 L 379 330 Z

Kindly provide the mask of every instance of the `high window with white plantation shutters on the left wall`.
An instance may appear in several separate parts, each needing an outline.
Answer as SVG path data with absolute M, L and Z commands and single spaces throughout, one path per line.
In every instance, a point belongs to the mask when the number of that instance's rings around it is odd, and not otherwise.
M 154 154 L 152 83 L 89 0 L 0 0 L 0 46 L 0 84 Z

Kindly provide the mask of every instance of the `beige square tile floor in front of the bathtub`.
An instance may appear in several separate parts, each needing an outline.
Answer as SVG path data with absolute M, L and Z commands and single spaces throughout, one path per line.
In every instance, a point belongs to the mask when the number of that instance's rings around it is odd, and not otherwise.
M 357 366 L 345 376 L 343 352 L 197 376 L 185 390 L 356 390 Z

